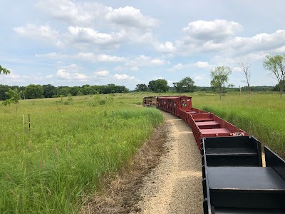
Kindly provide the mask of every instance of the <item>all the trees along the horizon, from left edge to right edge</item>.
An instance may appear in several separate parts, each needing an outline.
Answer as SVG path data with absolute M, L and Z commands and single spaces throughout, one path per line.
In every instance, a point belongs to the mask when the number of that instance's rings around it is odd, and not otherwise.
M 250 64 L 249 61 L 245 58 L 239 61 L 239 66 L 242 69 L 245 75 L 245 83 L 247 83 L 245 88 L 249 92 L 249 98 L 251 98 L 251 91 L 280 91 L 280 98 L 282 98 L 282 93 L 285 86 L 285 54 L 276 55 L 276 56 L 266 56 L 266 59 L 263 62 L 264 68 L 271 73 L 271 75 L 276 78 L 278 84 L 274 87 L 270 86 L 250 86 Z M 0 73 L 9 74 L 10 71 L 6 68 L 0 66 Z M 197 87 L 195 86 L 195 81 L 192 80 L 189 76 L 183 78 L 179 82 L 173 83 L 173 87 L 168 86 L 165 79 L 157 79 L 150 81 L 148 85 L 138 84 L 136 85 L 135 91 L 153 91 L 156 93 L 167 92 L 170 89 L 174 89 L 178 93 L 193 92 L 193 91 L 218 91 L 219 98 L 221 99 L 221 93 L 225 92 L 225 84 L 229 81 L 229 75 L 232 73 L 232 68 L 228 66 L 217 66 L 211 70 L 211 86 L 212 87 Z M 114 84 L 108 84 L 105 86 L 52 86 L 48 85 L 28 85 L 24 86 L 6 86 L 0 85 L 0 100 L 6 100 L 9 98 L 9 88 L 11 90 L 19 93 L 21 98 L 51 98 L 58 96 L 79 96 L 95 93 L 126 93 L 128 88 L 125 86 L 115 86 Z M 231 89 L 232 88 L 232 89 Z M 234 85 L 229 84 L 227 86 L 229 91 L 241 90 L 241 88 L 234 88 Z

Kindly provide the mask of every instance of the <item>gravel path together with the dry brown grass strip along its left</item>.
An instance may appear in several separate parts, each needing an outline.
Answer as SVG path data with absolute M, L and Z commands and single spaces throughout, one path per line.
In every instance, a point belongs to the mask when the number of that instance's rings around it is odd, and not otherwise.
M 190 126 L 162 112 L 165 123 L 102 193 L 86 197 L 80 213 L 202 213 L 201 158 Z

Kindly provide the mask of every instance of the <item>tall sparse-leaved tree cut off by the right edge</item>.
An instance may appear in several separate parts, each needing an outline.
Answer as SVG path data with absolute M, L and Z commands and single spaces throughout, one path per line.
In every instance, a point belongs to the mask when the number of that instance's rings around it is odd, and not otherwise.
M 263 62 L 263 67 L 271 72 L 271 75 L 276 78 L 280 88 L 280 98 L 284 89 L 285 80 L 285 54 L 276 56 L 266 56 Z

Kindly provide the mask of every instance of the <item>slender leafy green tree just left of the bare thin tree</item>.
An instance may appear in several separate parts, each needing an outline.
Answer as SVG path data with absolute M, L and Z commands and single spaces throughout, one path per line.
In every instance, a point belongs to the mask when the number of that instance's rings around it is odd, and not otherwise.
M 232 69 L 228 66 L 218 66 L 211 70 L 211 86 L 219 91 L 219 100 L 221 100 L 222 88 L 224 83 L 229 81 L 229 74 L 232 73 Z

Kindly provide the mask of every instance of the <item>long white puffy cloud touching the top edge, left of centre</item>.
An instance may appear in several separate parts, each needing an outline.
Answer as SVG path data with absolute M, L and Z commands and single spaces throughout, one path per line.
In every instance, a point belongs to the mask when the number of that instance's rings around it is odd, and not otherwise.
M 119 28 L 152 29 L 158 21 L 145 16 L 133 6 L 118 9 L 94 1 L 41 0 L 36 3 L 38 9 L 46 11 L 53 19 L 65 21 L 76 26 L 109 25 Z

